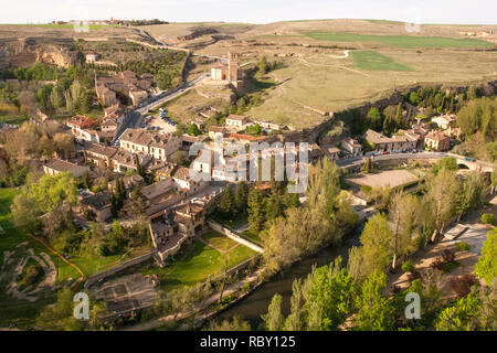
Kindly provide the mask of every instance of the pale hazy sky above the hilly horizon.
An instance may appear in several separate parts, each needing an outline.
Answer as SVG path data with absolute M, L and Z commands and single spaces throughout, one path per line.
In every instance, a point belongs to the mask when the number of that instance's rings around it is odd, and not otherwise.
M 306 19 L 388 19 L 497 24 L 496 0 L 0 0 L 0 23 L 71 19 L 267 23 Z

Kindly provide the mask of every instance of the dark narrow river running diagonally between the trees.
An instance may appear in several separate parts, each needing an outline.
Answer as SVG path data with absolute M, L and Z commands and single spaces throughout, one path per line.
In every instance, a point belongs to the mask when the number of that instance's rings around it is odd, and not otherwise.
M 285 315 L 288 314 L 292 284 L 294 280 L 297 278 L 306 278 L 314 265 L 328 265 L 338 256 L 342 257 L 342 264 L 347 264 L 348 250 L 352 246 L 358 246 L 360 244 L 359 236 L 361 231 L 362 227 L 359 227 L 355 233 L 345 236 L 340 245 L 324 248 L 316 255 L 307 257 L 274 276 L 271 281 L 256 289 L 248 297 L 220 313 L 218 319 L 229 319 L 233 315 L 240 315 L 251 323 L 253 330 L 256 330 L 262 322 L 261 315 L 267 312 L 271 299 L 276 293 L 279 293 L 283 297 L 283 313 Z

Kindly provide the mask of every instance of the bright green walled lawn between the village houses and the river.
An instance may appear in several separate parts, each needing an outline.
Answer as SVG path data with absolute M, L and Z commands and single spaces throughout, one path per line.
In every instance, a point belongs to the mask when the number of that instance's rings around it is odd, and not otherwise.
M 170 291 L 184 286 L 194 286 L 224 271 L 224 256 L 228 268 L 232 268 L 255 256 L 256 253 L 243 245 L 236 246 L 225 255 L 207 244 L 194 240 L 190 248 L 178 256 L 171 266 L 154 268 L 146 275 L 157 274 L 161 289 Z

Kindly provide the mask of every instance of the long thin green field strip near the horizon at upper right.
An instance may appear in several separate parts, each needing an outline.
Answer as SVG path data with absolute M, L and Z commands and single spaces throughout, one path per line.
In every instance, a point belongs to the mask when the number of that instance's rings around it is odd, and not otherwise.
M 491 47 L 493 43 L 475 39 L 417 35 L 373 35 L 347 32 L 306 32 L 305 35 L 330 42 L 359 42 L 383 44 L 393 47 Z

